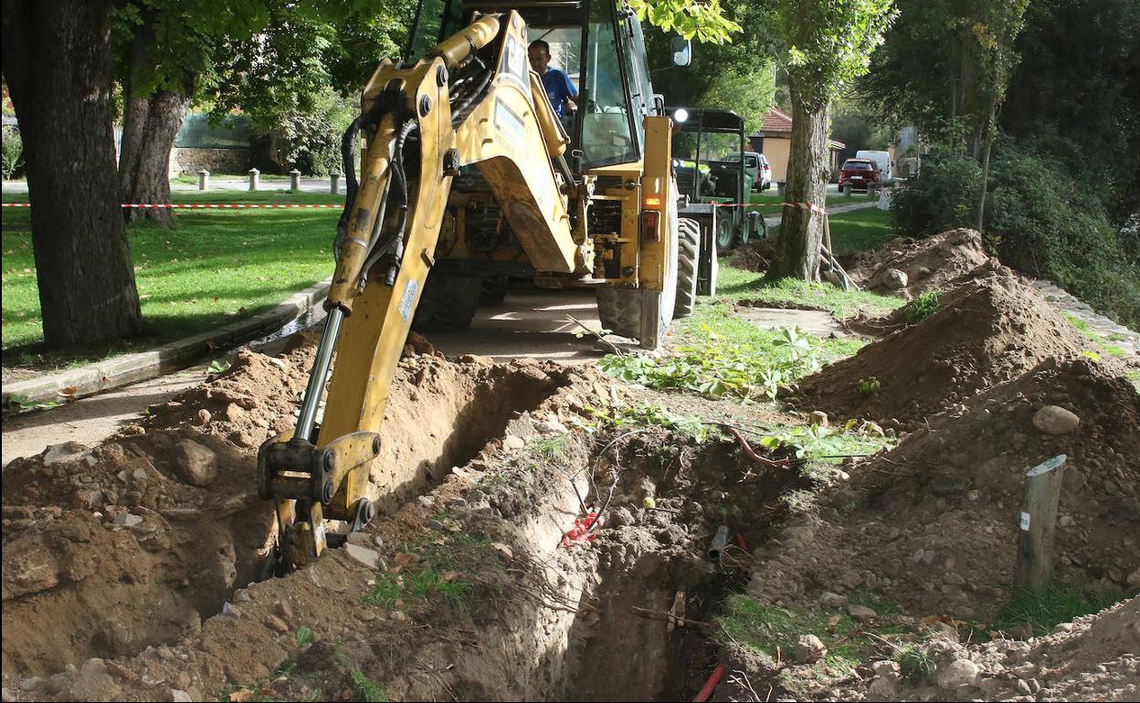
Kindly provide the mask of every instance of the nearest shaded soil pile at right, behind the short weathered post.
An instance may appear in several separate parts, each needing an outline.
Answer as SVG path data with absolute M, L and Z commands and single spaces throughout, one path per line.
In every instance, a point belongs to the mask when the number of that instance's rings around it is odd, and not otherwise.
M 1078 424 L 1047 423 L 1057 408 Z M 765 547 L 750 589 L 790 602 L 862 588 L 912 615 L 986 622 L 1011 597 L 1025 472 L 1061 453 L 1057 575 L 1140 587 L 1140 395 L 1077 359 L 1045 361 L 852 468 L 817 521 Z

